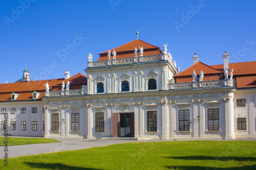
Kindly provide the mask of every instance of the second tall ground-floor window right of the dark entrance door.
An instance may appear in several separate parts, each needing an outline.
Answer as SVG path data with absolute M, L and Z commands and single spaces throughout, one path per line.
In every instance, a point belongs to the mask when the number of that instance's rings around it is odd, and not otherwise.
M 179 131 L 189 130 L 189 110 L 179 110 Z

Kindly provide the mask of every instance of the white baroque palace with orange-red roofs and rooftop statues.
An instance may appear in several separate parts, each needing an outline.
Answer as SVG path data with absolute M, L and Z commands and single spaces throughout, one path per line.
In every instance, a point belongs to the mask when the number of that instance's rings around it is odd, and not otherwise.
M 0 84 L 0 133 L 134 139 L 256 138 L 256 61 L 180 71 L 140 39 L 88 56 L 87 76 Z M 221 58 L 216 57 L 216 58 Z M 222 60 L 222 59 L 220 59 Z M 193 64 L 194 63 L 194 64 Z M 7 120 L 7 121 L 6 121 Z

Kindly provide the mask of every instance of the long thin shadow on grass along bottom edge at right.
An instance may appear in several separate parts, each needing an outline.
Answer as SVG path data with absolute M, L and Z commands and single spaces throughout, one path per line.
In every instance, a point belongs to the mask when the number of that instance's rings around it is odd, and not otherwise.
M 240 167 L 206 167 L 206 166 L 165 166 L 165 168 L 168 169 L 207 169 L 207 170 L 237 170 L 237 169 L 256 169 L 256 165 L 251 165 L 251 166 L 240 166 Z

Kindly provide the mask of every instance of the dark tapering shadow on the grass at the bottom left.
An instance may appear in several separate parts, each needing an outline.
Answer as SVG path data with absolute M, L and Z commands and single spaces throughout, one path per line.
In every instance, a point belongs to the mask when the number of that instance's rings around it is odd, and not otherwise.
M 31 168 L 47 168 L 47 169 L 78 169 L 78 170 L 98 170 L 94 168 L 85 168 L 85 167 L 76 167 L 76 166 L 69 166 L 62 163 L 31 163 L 31 162 L 24 162 L 29 165 Z

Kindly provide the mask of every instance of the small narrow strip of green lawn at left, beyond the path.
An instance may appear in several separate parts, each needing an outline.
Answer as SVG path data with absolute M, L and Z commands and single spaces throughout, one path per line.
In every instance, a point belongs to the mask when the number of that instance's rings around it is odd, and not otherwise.
M 0 147 L 5 145 L 5 137 L 0 137 Z M 37 143 L 52 143 L 52 142 L 61 142 L 56 139 L 48 138 L 28 138 L 28 137 L 10 137 L 8 136 L 8 145 L 22 145 L 22 144 L 37 144 Z M 0 151 L 1 152 L 1 151 Z

